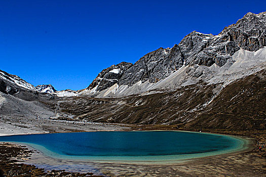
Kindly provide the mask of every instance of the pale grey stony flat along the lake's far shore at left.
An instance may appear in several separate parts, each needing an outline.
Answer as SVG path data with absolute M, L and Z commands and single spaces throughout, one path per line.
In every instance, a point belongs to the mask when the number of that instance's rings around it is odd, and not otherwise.
M 0 135 L 42 134 L 48 132 L 76 132 L 100 130 L 126 130 L 121 124 L 93 123 L 88 121 L 65 121 L 58 119 L 1 117 Z

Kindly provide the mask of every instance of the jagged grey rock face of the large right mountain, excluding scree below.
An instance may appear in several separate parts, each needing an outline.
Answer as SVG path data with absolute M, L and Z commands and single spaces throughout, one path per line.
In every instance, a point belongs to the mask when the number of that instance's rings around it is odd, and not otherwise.
M 210 67 L 215 64 L 222 67 L 229 61 L 234 62 L 232 56 L 240 49 L 257 51 L 266 46 L 265 14 L 248 13 L 218 35 L 193 31 L 178 45 L 150 52 L 134 65 L 126 62 L 112 65 L 99 73 L 83 93 L 97 95 L 114 84 L 117 84 L 114 89 L 125 91 L 127 88 L 123 85 L 130 87 L 139 81 L 156 83 L 182 66 L 196 64 Z

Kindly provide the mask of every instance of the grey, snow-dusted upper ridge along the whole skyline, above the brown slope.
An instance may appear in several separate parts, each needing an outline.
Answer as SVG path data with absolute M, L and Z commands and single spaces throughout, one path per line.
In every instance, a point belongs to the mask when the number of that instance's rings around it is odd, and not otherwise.
M 187 34 L 177 45 L 172 48 L 159 48 L 153 52 L 149 52 L 134 64 L 122 62 L 103 69 L 92 83 L 84 90 L 80 91 L 56 91 L 52 89 L 48 93 L 56 96 L 128 96 L 131 94 L 143 94 L 155 90 L 167 89 L 165 86 L 158 87 L 160 82 L 164 82 L 167 77 L 174 75 L 175 72 L 184 70 L 190 73 L 191 78 L 187 78 L 182 82 L 189 82 L 198 76 L 187 70 L 195 70 L 207 66 L 215 68 L 224 65 L 232 65 L 235 59 L 232 56 L 239 50 L 258 51 L 266 46 L 266 12 L 259 14 L 247 13 L 243 18 L 239 19 L 235 24 L 224 27 L 218 34 L 204 34 L 193 31 Z M 188 68 L 187 68 L 188 66 Z M 217 67 L 216 67 L 217 68 Z M 208 69 L 208 70 L 210 70 Z M 196 69 L 197 70 L 197 69 Z M 15 75 L 9 75 L 2 72 L 2 78 L 10 76 L 8 81 L 13 81 L 18 86 L 24 87 L 34 92 L 46 92 L 40 89 L 40 85 L 34 87 L 23 79 Z M 1 75 L 0 75 L 1 76 Z M 183 76 L 184 77 L 184 76 Z M 16 78 L 16 79 L 14 79 Z M 180 87 L 183 83 L 174 83 L 174 87 Z M 159 83 L 159 84 L 158 84 Z M 193 83 L 193 82 L 192 82 Z M 43 87 L 48 87 L 43 85 Z M 144 89 L 146 87 L 147 89 Z M 39 89 L 36 89 L 39 88 Z M 133 90 L 139 90 L 133 91 Z M 5 89 L 2 89 L 3 92 Z M 6 88 L 7 90 L 7 88 Z M 133 92 L 132 92 L 133 91 Z M 109 93 L 113 94 L 109 94 Z M 125 93 L 125 94 L 123 94 Z

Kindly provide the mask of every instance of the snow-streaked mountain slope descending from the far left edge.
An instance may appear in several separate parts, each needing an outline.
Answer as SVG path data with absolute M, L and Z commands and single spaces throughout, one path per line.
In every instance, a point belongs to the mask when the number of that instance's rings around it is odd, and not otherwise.
M 32 84 L 30 84 L 30 83 L 26 82 L 25 80 L 21 79 L 19 76 L 9 74 L 9 73 L 7 73 L 5 71 L 2 71 L 2 70 L 0 70 L 0 79 L 15 83 L 16 85 L 21 86 L 24 89 L 37 91 Z

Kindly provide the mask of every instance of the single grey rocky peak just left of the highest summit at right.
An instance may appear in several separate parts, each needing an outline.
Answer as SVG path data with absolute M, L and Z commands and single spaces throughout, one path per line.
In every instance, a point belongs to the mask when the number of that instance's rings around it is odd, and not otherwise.
M 235 41 L 222 40 L 222 36 L 196 31 L 188 34 L 179 43 L 185 56 L 185 65 L 223 66 L 240 48 Z

